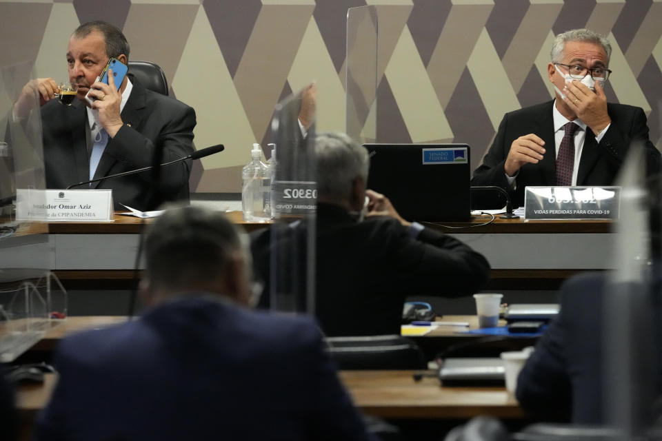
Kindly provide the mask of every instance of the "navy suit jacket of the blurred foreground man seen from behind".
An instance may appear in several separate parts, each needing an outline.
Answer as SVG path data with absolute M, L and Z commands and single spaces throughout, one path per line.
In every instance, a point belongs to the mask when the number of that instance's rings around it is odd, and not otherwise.
M 310 318 L 185 296 L 59 345 L 38 440 L 365 440 Z

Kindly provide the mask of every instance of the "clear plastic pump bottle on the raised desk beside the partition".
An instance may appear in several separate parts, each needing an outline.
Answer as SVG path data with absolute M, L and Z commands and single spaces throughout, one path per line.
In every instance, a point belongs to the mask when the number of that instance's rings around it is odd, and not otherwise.
M 241 171 L 241 207 L 243 220 L 267 222 L 271 219 L 271 176 L 261 160 L 259 144 L 253 144 L 251 161 Z

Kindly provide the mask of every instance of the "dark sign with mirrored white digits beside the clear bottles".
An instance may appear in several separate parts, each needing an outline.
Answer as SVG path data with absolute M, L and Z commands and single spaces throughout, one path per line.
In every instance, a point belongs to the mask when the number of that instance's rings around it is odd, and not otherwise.
M 317 184 L 314 181 L 274 181 L 272 199 L 274 218 L 313 214 L 317 210 Z

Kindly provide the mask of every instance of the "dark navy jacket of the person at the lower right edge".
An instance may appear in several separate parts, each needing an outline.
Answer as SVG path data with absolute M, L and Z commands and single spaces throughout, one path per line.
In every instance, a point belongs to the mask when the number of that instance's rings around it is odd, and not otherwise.
M 604 424 L 608 422 L 605 404 L 619 404 L 608 402 L 605 393 L 605 388 L 613 384 L 605 378 L 603 352 L 603 340 L 610 338 L 605 335 L 603 318 L 607 277 L 604 273 L 580 274 L 561 288 L 561 312 L 541 336 L 517 381 L 517 400 L 530 413 L 545 420 Z M 630 367 L 631 412 L 634 420 L 644 424 L 652 421 L 652 402 L 661 391 L 660 352 L 651 350 L 659 347 L 660 287 L 657 280 L 651 290 L 653 296 L 645 294 L 648 288 L 642 282 L 628 282 L 617 288 L 636 293 L 619 300 L 619 308 L 632 309 L 636 320 L 631 340 L 621 344 L 629 347 L 630 361 L 636 360 Z M 623 306 L 623 302 L 628 305 Z M 628 380 L 619 376 L 616 381 Z

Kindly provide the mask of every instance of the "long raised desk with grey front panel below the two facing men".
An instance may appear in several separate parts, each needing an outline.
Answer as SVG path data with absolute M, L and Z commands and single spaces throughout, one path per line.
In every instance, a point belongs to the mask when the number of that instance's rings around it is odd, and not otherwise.
M 249 232 L 268 225 L 245 223 L 241 212 L 229 212 L 228 217 Z M 488 219 L 481 216 L 468 223 L 425 223 L 485 255 L 492 265 L 487 289 L 553 290 L 576 272 L 612 267 L 610 221 L 496 218 L 480 225 Z M 113 223 L 50 223 L 48 229 L 44 265 L 54 269 L 65 283 L 78 283 L 86 289 L 102 283 L 119 289 L 134 284 L 132 268 L 140 219 L 115 216 Z M 0 255 L 0 267 L 34 260 L 34 249 L 23 248 L 12 250 L 11 256 Z M 38 252 L 43 254 L 43 249 Z

